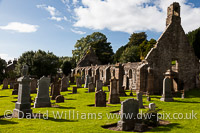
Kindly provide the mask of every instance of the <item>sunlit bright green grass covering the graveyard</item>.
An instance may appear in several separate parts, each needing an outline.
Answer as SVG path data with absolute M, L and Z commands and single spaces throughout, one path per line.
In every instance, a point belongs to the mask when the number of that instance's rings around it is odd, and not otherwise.
M 2 86 L 0 87 L 2 88 Z M 72 90 L 70 87 L 69 90 Z M 104 87 L 104 90 L 107 90 L 107 87 Z M 120 104 L 109 104 L 109 107 L 92 107 L 95 103 L 95 93 L 86 93 L 86 88 L 79 88 L 78 94 L 70 94 L 71 91 L 61 92 L 62 95 L 67 99 L 65 103 L 55 103 L 55 100 L 52 100 L 53 105 L 59 105 L 59 107 L 51 108 L 32 108 L 33 113 L 46 113 L 48 110 L 49 118 L 44 119 L 1 119 L 0 118 L 0 132 L 116 132 L 108 129 L 104 129 L 101 126 L 111 123 L 116 123 L 119 119 L 108 119 L 106 113 L 111 111 L 120 110 Z M 11 95 L 12 90 L 2 90 L 0 89 L 0 116 L 4 115 L 6 110 L 13 110 L 15 108 L 14 101 L 17 101 L 17 95 Z M 130 92 L 126 92 L 129 94 Z M 31 94 L 32 99 L 35 98 L 36 94 Z M 108 99 L 107 92 L 107 99 Z M 176 120 L 170 119 L 170 124 L 167 126 L 159 126 L 150 130 L 149 132 L 199 132 L 200 128 L 200 91 L 193 90 L 186 93 L 185 99 L 174 98 L 175 102 L 161 102 L 160 96 L 152 96 L 152 101 L 156 103 L 156 106 L 160 110 L 159 113 L 191 113 L 194 110 L 197 114 L 197 120 Z M 128 98 L 133 97 L 120 97 L 120 100 L 123 101 Z M 13 102 L 12 102 L 13 101 Z M 143 97 L 144 105 L 148 105 L 149 102 L 146 101 L 146 97 Z M 32 103 L 33 105 L 33 103 Z M 54 119 L 52 111 L 63 111 L 66 112 L 67 118 L 65 116 L 62 119 Z M 69 111 L 71 115 L 73 111 L 75 113 L 78 111 L 79 116 L 81 113 L 102 113 L 102 119 L 79 119 L 71 118 L 69 119 Z M 146 111 L 146 109 L 142 109 Z M 97 117 L 98 118 L 98 117 Z

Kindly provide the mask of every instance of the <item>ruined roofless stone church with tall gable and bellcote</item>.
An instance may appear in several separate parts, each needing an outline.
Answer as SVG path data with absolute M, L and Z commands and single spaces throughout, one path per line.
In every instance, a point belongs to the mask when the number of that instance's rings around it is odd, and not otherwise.
M 97 58 L 88 57 L 81 60 L 84 65 L 79 63 L 72 75 L 90 75 L 104 85 L 114 76 L 120 82 L 119 89 L 161 94 L 164 73 L 171 69 L 174 91 L 199 88 L 200 63 L 181 26 L 180 5 L 176 2 L 168 7 L 165 31 L 142 62 L 99 65 Z

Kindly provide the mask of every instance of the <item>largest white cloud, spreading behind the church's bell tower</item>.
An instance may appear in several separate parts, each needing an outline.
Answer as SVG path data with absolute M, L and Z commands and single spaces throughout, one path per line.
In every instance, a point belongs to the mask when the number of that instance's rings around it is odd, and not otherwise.
M 200 27 L 200 7 L 187 0 L 176 0 L 181 5 L 182 25 L 186 32 Z M 74 9 L 75 27 L 127 33 L 139 31 L 162 32 L 165 29 L 167 7 L 174 0 L 82 0 L 84 6 Z M 192 24 L 191 24 L 192 23 Z

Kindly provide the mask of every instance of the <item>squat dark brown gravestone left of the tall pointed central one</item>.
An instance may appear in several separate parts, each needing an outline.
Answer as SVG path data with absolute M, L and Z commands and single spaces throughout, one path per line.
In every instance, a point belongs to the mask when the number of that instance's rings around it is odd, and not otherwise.
M 95 107 L 106 107 L 106 93 L 102 90 L 95 93 Z

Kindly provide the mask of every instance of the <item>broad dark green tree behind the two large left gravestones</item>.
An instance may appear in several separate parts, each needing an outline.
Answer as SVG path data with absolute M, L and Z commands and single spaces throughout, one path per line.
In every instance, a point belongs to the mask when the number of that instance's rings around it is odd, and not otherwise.
M 29 66 L 29 74 L 36 75 L 38 78 L 48 75 L 56 75 L 59 68 L 59 58 L 51 52 L 38 50 L 37 52 L 28 51 L 18 59 L 16 72 L 20 75 L 22 66 Z

